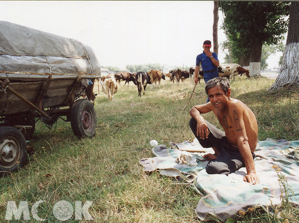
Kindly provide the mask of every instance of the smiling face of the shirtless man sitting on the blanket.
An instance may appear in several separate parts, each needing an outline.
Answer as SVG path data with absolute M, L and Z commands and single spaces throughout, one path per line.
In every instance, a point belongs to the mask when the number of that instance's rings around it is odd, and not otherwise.
M 230 100 L 231 89 L 225 94 L 224 90 L 219 86 L 211 87 L 208 90 L 208 97 L 212 105 L 219 111 L 223 111 L 227 108 L 227 103 Z

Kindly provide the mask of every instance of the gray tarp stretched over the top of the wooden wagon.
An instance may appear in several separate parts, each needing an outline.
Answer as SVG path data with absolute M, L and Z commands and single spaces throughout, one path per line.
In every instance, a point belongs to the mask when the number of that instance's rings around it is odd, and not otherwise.
M 0 21 L 0 77 L 40 78 L 45 74 L 91 78 L 100 77 L 101 68 L 93 50 L 77 40 Z

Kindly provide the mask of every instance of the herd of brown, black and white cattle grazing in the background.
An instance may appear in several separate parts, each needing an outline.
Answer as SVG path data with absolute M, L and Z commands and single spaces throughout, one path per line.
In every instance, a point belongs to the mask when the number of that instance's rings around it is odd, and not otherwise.
M 121 80 L 126 81 L 128 83 L 130 81 L 133 81 L 135 85 L 138 87 L 138 96 L 141 97 L 142 92 L 143 94 L 146 93 L 147 84 L 151 84 L 151 88 L 153 87 L 153 84 L 160 85 L 161 79 L 165 80 L 165 76 L 169 77 L 170 81 L 174 84 L 174 80 L 176 81 L 176 84 L 179 84 L 179 81 L 182 82 L 190 77 L 190 82 L 194 84 L 194 68 L 190 68 L 189 71 L 181 71 L 180 69 L 175 69 L 174 71 L 170 71 L 167 74 L 164 74 L 162 70 L 150 70 L 149 72 L 137 72 L 137 73 L 128 73 L 128 72 L 120 72 L 116 74 L 102 74 L 99 82 L 102 86 L 102 91 L 107 94 L 108 100 L 112 100 L 114 94 L 118 90 L 117 82 L 121 82 Z M 234 78 L 237 75 L 246 74 L 247 77 L 250 77 L 249 70 L 246 70 L 242 68 L 238 64 L 221 64 L 218 67 L 219 76 L 221 77 L 227 77 L 228 79 Z M 203 78 L 203 70 L 199 69 L 198 79 L 200 82 L 200 79 Z

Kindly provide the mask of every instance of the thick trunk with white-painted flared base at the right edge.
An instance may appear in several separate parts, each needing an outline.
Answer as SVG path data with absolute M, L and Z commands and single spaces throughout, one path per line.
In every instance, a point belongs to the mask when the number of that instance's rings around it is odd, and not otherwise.
M 284 86 L 299 87 L 299 1 L 292 1 L 290 23 L 283 63 L 278 77 L 269 90 Z

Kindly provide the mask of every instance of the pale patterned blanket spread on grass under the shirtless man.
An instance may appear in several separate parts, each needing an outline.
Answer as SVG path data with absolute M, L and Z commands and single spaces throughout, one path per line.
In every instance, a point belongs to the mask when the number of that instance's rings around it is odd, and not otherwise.
M 208 161 L 202 157 L 204 153 L 181 150 L 203 149 L 199 144 L 186 141 L 171 145 L 170 149 L 164 145 L 152 148 L 155 157 L 143 158 L 140 163 L 144 171 L 158 169 L 160 174 L 191 185 L 202 195 L 195 210 L 202 221 L 238 219 L 256 207 L 271 212 L 274 207 L 281 206 L 284 197 L 292 205 L 299 205 L 299 141 L 267 139 L 258 143 L 254 159 L 260 179 L 258 185 L 243 181 L 245 167 L 228 176 L 207 174 Z M 195 166 L 191 165 L 194 160 L 197 162 Z M 282 186 L 284 182 L 286 187 Z

